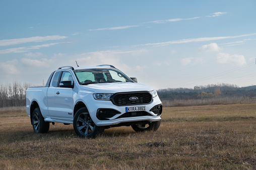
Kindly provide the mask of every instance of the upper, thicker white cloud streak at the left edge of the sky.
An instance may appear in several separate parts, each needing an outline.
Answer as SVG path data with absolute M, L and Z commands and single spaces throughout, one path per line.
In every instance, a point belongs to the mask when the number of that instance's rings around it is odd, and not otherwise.
M 30 38 L 20 38 L 20 39 L 11 39 L 11 40 L 0 40 L 0 46 L 10 46 L 17 45 L 23 43 L 31 43 L 31 42 L 43 42 L 49 40 L 62 40 L 66 39 L 65 36 L 45 36 L 45 37 L 30 37 Z

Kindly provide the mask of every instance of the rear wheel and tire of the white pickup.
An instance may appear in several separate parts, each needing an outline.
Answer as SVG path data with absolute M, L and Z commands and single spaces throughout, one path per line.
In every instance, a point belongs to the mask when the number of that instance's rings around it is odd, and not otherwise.
M 47 133 L 49 131 L 50 122 L 44 121 L 39 107 L 35 108 L 32 113 L 32 126 L 35 133 Z

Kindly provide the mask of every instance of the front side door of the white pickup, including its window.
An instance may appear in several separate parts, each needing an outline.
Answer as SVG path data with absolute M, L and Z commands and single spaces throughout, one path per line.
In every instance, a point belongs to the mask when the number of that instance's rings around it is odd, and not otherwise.
M 63 71 L 58 86 L 55 88 L 55 111 L 53 119 L 62 121 L 73 121 L 73 88 L 59 87 L 61 81 L 70 80 L 74 83 L 74 78 L 69 71 Z

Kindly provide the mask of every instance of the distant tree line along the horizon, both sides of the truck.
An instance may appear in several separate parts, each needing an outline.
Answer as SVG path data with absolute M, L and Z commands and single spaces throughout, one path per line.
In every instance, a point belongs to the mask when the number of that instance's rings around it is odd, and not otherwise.
M 26 106 L 28 83 L 0 83 L 0 108 Z M 256 97 L 256 86 L 238 87 L 231 84 L 209 84 L 194 88 L 159 89 L 157 93 L 162 100 L 188 100 L 216 97 Z

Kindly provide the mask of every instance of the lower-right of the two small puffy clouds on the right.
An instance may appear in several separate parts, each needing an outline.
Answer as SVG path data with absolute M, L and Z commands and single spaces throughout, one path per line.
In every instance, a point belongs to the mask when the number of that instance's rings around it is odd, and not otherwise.
M 216 58 L 217 62 L 220 64 L 234 64 L 238 66 L 243 66 L 246 64 L 245 58 L 242 55 L 219 53 Z

